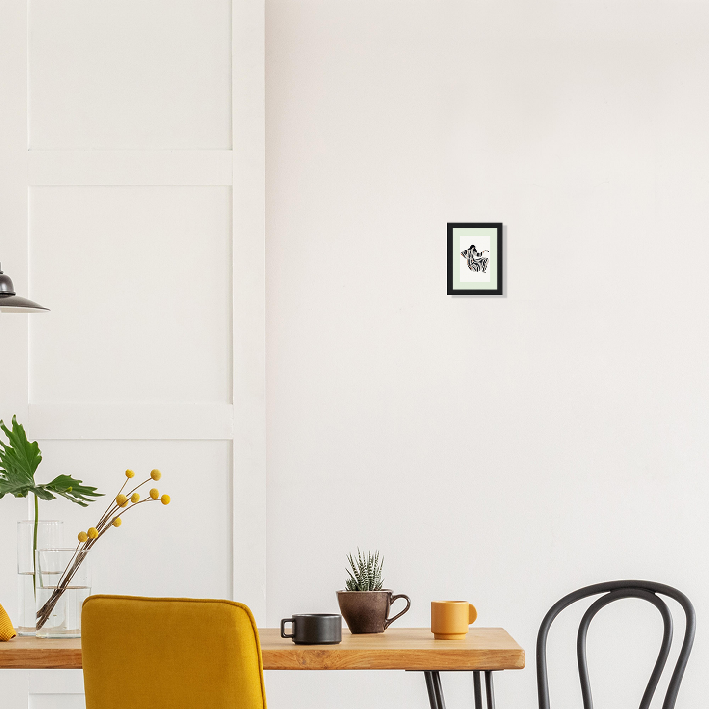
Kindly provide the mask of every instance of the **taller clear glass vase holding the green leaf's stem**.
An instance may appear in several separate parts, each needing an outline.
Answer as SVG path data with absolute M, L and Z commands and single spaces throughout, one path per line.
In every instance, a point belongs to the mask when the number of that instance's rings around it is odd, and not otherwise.
M 37 547 L 61 547 L 64 523 L 60 520 L 39 520 Z M 35 634 L 35 520 L 17 523 L 17 634 Z

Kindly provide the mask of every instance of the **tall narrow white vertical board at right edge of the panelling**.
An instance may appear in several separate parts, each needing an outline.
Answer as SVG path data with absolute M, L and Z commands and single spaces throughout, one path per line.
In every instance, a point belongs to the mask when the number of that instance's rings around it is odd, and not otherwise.
M 264 0 L 233 12 L 234 594 L 257 623 L 266 594 Z

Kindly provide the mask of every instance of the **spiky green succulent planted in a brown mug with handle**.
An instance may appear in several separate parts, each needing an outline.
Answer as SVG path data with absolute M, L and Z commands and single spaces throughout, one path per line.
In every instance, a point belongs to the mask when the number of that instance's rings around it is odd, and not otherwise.
M 362 555 L 357 547 L 357 558 L 347 554 L 347 561 L 350 568 L 347 569 L 345 589 L 337 591 L 342 618 L 353 635 L 384 632 L 411 607 L 411 599 L 403 593 L 393 596 L 388 588 L 384 588 L 381 576 L 384 558 L 379 559 L 378 551 Z M 406 608 L 389 618 L 389 608 L 397 598 L 406 598 Z

